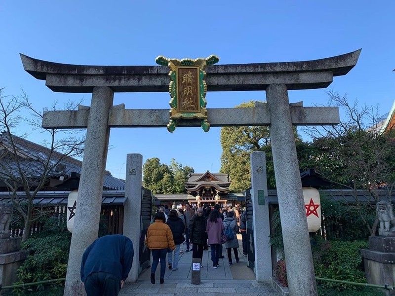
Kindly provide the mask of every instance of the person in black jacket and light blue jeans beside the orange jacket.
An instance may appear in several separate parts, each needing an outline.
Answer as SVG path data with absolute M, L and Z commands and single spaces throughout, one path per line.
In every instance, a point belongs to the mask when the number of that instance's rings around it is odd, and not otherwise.
M 180 245 L 184 242 L 184 232 L 185 232 L 185 224 L 178 217 L 178 213 L 176 210 L 171 210 L 169 213 L 169 219 L 166 222 L 169 225 L 171 232 L 173 233 L 173 240 L 176 248 L 167 254 L 167 263 L 169 264 L 169 269 L 177 270 L 178 266 L 178 255 L 180 254 Z M 174 259 L 173 259 L 174 253 Z

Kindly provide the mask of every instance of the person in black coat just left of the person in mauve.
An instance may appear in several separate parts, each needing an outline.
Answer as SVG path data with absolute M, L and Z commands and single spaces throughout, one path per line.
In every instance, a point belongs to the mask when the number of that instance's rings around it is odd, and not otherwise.
M 203 257 L 203 246 L 207 241 L 206 224 L 207 219 L 203 216 L 203 209 L 198 208 L 197 213 L 191 218 L 191 222 L 189 223 L 189 233 L 193 243 L 192 258 L 200 259 L 200 267 L 203 267 L 201 265 L 201 258 Z

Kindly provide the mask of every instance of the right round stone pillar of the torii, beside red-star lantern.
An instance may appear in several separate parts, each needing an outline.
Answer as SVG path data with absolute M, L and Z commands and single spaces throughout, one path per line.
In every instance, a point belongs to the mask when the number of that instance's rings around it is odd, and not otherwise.
M 270 140 L 290 295 L 316 295 L 316 277 L 285 84 L 266 88 Z

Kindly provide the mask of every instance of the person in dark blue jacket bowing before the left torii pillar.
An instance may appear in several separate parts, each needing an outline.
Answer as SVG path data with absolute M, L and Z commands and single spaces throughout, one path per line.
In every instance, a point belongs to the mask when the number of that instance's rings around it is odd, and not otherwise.
M 117 296 L 133 263 L 133 243 L 123 235 L 96 239 L 83 253 L 81 281 L 87 296 Z

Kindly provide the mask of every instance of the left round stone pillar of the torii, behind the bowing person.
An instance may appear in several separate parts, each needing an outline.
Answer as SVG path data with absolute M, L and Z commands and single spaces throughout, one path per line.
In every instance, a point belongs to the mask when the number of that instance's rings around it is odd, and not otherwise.
M 69 295 L 81 293 L 81 254 L 96 238 L 99 231 L 110 128 L 108 117 L 113 105 L 114 92 L 107 86 L 93 88 L 86 130 L 81 176 L 79 179 L 78 206 L 71 239 L 65 291 Z M 83 290 L 82 290 L 83 292 Z

